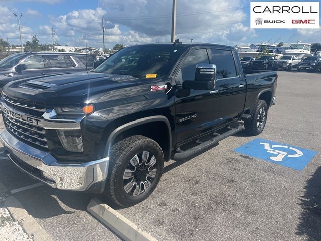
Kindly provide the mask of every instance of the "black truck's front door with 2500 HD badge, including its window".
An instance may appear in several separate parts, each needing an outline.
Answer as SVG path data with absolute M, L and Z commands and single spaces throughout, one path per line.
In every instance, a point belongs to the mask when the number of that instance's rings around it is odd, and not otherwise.
M 217 122 L 218 94 L 215 91 L 182 89 L 184 80 L 195 79 L 195 67 L 201 63 L 209 63 L 207 50 L 191 51 L 175 78 L 178 88 L 175 96 L 177 143 L 187 142 L 211 130 Z

